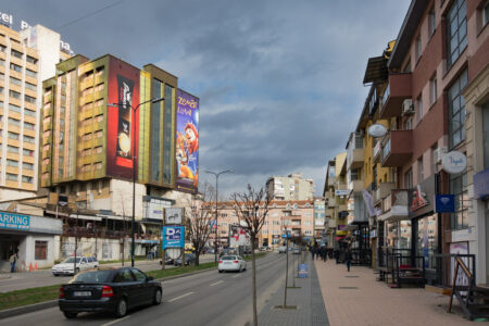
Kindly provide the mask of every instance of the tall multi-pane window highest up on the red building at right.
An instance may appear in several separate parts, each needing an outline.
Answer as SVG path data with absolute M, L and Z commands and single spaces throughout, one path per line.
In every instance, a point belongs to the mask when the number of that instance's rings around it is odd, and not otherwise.
M 467 5 L 453 1 L 447 15 L 447 65 L 450 68 L 467 47 Z

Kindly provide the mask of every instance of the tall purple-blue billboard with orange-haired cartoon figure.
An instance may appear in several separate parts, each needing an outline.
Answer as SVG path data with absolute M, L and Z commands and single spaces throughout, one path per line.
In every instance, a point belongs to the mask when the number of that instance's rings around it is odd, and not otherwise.
M 196 193 L 199 181 L 199 98 L 177 90 L 175 189 Z

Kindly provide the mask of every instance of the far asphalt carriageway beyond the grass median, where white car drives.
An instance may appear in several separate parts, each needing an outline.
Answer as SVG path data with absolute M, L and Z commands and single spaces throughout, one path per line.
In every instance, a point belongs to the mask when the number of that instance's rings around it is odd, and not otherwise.
M 200 258 L 201 263 L 214 261 L 213 254 L 206 254 Z M 154 261 L 136 261 L 136 267 L 142 272 L 160 269 L 160 260 Z M 124 262 L 125 266 L 130 266 L 130 261 Z M 100 266 L 121 266 L 121 263 L 116 264 L 103 264 Z M 173 265 L 166 265 L 166 268 L 174 267 Z M 36 272 L 23 272 L 23 273 L 2 273 L 0 274 L 0 292 L 9 292 L 13 290 L 29 289 L 35 287 L 46 287 L 57 284 L 67 283 L 72 276 L 54 276 L 51 269 L 40 269 Z

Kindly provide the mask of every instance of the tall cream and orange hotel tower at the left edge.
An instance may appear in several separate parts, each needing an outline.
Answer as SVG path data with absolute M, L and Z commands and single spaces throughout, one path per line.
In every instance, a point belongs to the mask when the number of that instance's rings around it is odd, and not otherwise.
M 0 201 L 38 190 L 41 82 L 68 57 L 53 30 L 0 25 Z

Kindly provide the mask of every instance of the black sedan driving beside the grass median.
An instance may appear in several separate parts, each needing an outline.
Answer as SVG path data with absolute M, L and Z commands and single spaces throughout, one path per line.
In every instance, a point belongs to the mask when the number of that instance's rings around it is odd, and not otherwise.
M 116 317 L 129 309 L 160 304 L 161 284 L 134 267 L 83 272 L 60 287 L 58 303 L 66 318 L 80 312 L 110 312 Z

